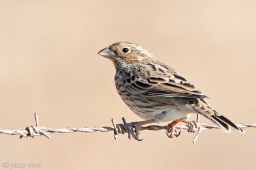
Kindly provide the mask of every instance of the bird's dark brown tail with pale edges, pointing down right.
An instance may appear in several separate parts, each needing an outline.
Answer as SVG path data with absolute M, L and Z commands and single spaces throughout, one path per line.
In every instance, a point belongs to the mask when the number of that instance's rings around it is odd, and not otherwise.
M 205 103 L 203 99 L 198 99 L 198 103 L 192 104 L 191 106 L 196 110 L 197 113 L 208 118 L 218 127 L 220 127 L 222 131 L 230 133 L 230 127 L 232 127 L 232 129 L 244 133 L 241 127 L 237 126 L 228 120 L 228 118 L 213 110 L 211 106 Z

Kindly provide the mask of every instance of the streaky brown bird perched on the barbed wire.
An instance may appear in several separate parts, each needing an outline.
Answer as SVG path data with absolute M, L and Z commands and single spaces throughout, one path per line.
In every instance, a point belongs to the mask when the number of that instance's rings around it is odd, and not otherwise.
M 209 98 L 175 69 L 157 60 L 143 46 L 129 41 L 113 43 L 98 52 L 115 66 L 115 86 L 124 103 L 144 121 L 134 122 L 135 139 L 142 125 L 170 122 L 170 136 L 178 137 L 175 126 L 196 113 L 217 125 L 222 131 L 241 127 L 205 102 Z M 139 139 L 138 139 L 139 140 Z

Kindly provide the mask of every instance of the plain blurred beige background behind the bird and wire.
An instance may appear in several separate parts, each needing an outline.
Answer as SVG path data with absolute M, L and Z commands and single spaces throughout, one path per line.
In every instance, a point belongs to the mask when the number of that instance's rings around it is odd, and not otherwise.
M 35 125 L 35 112 L 40 126 L 51 128 L 141 120 L 118 96 L 111 61 L 97 55 L 116 41 L 145 46 L 220 113 L 255 123 L 255 8 L 255 1 L 0 1 L 0 129 Z M 41 169 L 255 169 L 256 129 L 245 131 L 202 132 L 195 145 L 195 134 L 186 131 L 173 139 L 143 131 L 142 142 L 115 140 L 112 132 L 0 134 L 0 169 L 4 162 L 40 162 Z

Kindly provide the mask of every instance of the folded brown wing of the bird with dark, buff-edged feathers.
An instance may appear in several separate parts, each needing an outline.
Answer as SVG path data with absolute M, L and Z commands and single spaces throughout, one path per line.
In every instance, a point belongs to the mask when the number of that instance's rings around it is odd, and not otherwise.
M 125 89 L 135 94 L 199 99 L 207 97 L 175 70 L 161 63 L 131 66 L 124 72 Z

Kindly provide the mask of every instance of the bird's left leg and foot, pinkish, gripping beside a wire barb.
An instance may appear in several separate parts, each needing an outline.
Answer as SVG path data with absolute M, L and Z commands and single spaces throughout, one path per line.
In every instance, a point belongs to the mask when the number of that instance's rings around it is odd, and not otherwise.
M 132 134 L 132 138 L 134 138 L 138 141 L 142 141 L 142 139 L 139 139 L 139 133 L 140 133 L 141 126 L 146 125 L 146 124 L 156 123 L 155 119 L 150 119 L 150 120 L 145 120 L 145 121 L 140 121 L 140 122 L 131 122 L 131 123 L 126 123 L 124 119 L 123 119 L 123 121 L 124 121 L 124 125 L 129 125 L 129 126 L 135 128 L 135 134 L 133 132 L 133 129 L 131 131 L 131 134 Z

